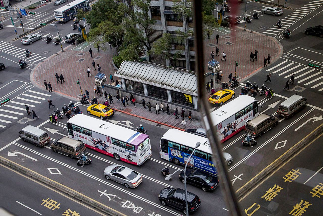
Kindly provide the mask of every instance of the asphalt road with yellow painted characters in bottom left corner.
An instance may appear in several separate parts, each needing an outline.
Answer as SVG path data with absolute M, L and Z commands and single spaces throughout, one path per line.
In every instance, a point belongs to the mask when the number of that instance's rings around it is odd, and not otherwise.
M 0 170 L 1 207 L 14 215 L 104 215 L 6 166 Z

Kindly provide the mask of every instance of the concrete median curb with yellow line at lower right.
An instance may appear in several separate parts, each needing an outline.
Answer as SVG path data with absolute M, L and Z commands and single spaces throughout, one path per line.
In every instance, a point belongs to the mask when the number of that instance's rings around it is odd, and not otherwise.
M 312 131 L 307 135 L 307 137 L 300 140 L 294 147 L 288 150 L 288 152 L 284 153 L 280 158 L 278 158 L 275 163 L 272 163 L 271 165 L 268 165 L 262 172 L 258 174 L 254 179 L 252 179 L 250 182 L 247 182 L 245 187 L 239 188 L 235 194 L 238 199 L 240 199 L 243 195 L 245 195 L 251 188 L 253 188 L 255 185 L 257 185 L 262 179 L 264 179 L 267 175 L 269 175 L 271 172 L 276 170 L 278 166 L 283 164 L 285 161 L 288 160 L 291 156 L 293 156 L 295 153 L 297 153 L 300 149 L 302 149 L 305 145 L 307 145 L 309 142 L 314 140 L 316 137 L 318 137 L 319 134 L 323 132 L 323 124 L 318 126 L 318 129 L 315 131 Z

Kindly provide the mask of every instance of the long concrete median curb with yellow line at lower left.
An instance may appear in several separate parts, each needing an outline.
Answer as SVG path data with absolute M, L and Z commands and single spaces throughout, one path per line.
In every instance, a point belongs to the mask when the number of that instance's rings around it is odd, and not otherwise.
M 26 176 L 28 177 L 31 177 L 33 179 L 35 179 L 36 181 L 39 181 L 41 183 L 44 183 L 45 185 L 51 187 L 51 188 L 55 188 L 57 189 L 58 191 L 68 195 L 69 197 L 72 197 L 74 199 L 77 199 L 81 202 L 83 202 L 84 204 L 86 205 L 89 205 L 107 215 L 111 215 L 111 216 L 125 216 L 124 214 L 122 214 L 121 212 L 116 212 L 114 210 L 112 210 L 111 208 L 109 208 L 108 206 L 106 205 L 103 205 L 101 203 L 99 203 L 98 201 L 94 200 L 94 199 L 91 199 L 87 196 L 84 196 L 83 194 L 81 193 L 78 193 L 77 191 L 71 189 L 71 188 L 68 188 L 64 185 L 61 185 L 59 184 L 58 182 L 54 181 L 54 180 L 51 180 L 45 176 L 42 176 L 32 170 L 29 170 L 27 169 L 26 167 L 23 167 L 21 165 L 18 165 L 16 164 L 15 162 L 13 161 L 10 161 L 2 156 L 0 156 L 0 163 L 3 164 L 3 165 L 6 165 L 20 173 L 23 173 L 25 174 Z

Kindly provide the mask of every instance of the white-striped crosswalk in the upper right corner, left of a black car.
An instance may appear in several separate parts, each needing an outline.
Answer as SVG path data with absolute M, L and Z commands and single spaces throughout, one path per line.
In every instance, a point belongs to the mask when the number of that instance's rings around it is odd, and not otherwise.
M 270 35 L 270 36 L 274 36 L 274 35 L 276 36 L 277 34 L 280 34 L 283 30 L 288 28 L 290 25 L 295 23 L 297 20 L 301 19 L 302 17 L 306 16 L 308 13 L 312 12 L 313 10 L 317 9 L 318 7 L 320 7 L 322 5 L 323 5 L 323 0 L 310 1 L 306 5 L 295 10 L 293 13 L 280 19 L 281 24 L 282 24 L 282 28 L 278 28 L 278 27 L 276 27 L 276 25 L 272 25 L 272 27 L 263 31 L 263 33 Z M 262 6 L 262 7 L 266 8 L 266 6 Z M 260 11 L 257 11 L 257 12 L 259 13 Z

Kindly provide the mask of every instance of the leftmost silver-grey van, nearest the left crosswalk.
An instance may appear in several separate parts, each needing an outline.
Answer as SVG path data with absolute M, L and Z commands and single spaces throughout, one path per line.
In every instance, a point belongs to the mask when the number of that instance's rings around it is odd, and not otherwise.
M 46 131 L 43 131 L 34 126 L 28 125 L 21 131 L 19 131 L 19 137 L 25 141 L 30 142 L 36 146 L 44 146 L 50 142 L 50 137 Z

